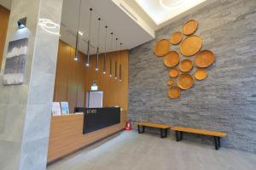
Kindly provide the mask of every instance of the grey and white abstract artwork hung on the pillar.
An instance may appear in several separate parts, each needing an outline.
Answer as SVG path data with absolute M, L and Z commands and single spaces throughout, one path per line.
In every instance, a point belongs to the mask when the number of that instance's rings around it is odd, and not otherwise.
M 9 42 L 3 85 L 21 84 L 24 79 L 28 38 Z

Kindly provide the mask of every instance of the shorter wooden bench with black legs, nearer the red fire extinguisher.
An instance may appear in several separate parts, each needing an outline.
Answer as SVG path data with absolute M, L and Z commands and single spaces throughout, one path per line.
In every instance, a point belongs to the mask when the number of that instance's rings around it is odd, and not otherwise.
M 145 132 L 145 127 L 154 127 L 154 128 L 159 128 L 160 129 L 160 137 L 161 138 L 166 138 L 167 137 L 167 130 L 171 128 L 170 125 L 165 125 L 165 124 L 155 124 L 152 122 L 136 122 L 137 124 L 137 132 L 138 133 L 144 133 Z M 143 130 L 141 130 L 141 128 Z

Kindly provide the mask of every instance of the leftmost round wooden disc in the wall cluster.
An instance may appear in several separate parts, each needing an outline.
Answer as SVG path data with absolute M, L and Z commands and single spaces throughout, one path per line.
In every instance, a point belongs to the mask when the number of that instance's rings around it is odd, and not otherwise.
M 170 41 L 167 39 L 162 39 L 155 44 L 154 54 L 156 54 L 159 57 L 162 57 L 170 51 L 170 48 L 171 48 Z

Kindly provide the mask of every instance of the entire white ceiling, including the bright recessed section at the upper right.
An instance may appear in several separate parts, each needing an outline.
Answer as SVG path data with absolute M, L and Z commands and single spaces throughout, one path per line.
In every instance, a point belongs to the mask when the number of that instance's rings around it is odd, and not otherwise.
M 154 39 L 154 31 L 172 23 L 184 14 L 202 8 L 207 4 L 206 2 L 210 2 L 210 0 L 183 0 L 184 2 L 177 6 L 179 9 L 167 9 L 160 5 L 160 1 L 178 3 L 181 0 L 81 0 L 80 7 L 79 1 L 63 0 L 60 39 L 75 46 L 76 31 L 83 32 L 84 35 L 79 38 L 79 50 L 84 54 L 87 52 L 86 43 L 89 40 L 90 8 L 93 8 L 90 54 L 95 54 L 99 17 L 102 19 L 99 34 L 100 52 L 105 51 L 105 26 L 108 26 L 106 48 L 109 52 L 116 49 L 116 37 L 119 38 L 117 49 L 120 48 L 120 42 L 123 43 L 122 49 L 135 48 Z M 11 0 L 0 0 L 0 4 L 10 8 Z M 79 8 L 81 9 L 80 19 Z M 110 32 L 113 32 L 112 43 L 110 43 Z

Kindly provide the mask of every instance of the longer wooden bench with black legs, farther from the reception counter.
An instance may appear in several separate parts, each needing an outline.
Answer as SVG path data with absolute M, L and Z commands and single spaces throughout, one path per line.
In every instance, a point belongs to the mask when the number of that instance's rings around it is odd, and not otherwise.
M 176 133 L 177 142 L 183 139 L 183 133 L 195 133 L 195 134 L 203 134 L 207 136 L 213 136 L 215 149 L 218 150 L 220 148 L 220 138 L 227 136 L 227 133 L 189 128 L 189 127 L 172 127 L 172 130 Z

